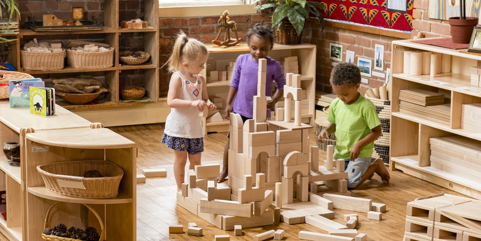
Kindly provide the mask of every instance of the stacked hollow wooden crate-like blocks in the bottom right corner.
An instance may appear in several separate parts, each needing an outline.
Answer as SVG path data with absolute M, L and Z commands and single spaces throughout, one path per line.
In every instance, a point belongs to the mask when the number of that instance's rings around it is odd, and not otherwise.
M 481 240 L 481 201 L 450 194 L 408 203 L 405 241 Z

